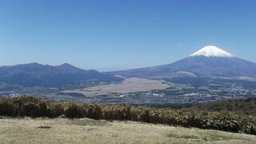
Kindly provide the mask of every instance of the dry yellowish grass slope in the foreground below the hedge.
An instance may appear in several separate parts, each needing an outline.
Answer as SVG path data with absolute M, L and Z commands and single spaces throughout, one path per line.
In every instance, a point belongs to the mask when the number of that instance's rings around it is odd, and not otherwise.
M 50 128 L 38 128 L 50 126 Z M 0 143 L 256 143 L 256 136 L 139 122 L 2 118 Z

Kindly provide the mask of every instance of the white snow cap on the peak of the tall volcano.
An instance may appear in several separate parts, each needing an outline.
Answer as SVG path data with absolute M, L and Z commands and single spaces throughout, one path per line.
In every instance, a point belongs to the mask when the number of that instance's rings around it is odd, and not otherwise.
M 194 54 L 191 54 L 190 57 L 219 57 L 219 58 L 233 58 L 234 55 L 218 48 L 217 46 L 205 46 L 201 50 L 198 50 Z

